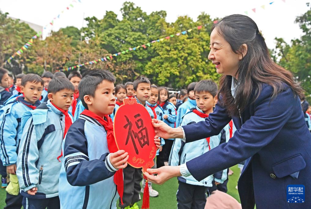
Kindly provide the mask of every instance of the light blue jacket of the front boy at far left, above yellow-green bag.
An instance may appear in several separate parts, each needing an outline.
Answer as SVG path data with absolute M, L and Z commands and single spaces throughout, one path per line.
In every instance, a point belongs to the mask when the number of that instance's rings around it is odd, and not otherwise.
M 38 106 L 40 102 L 38 100 L 35 104 L 30 104 L 24 97 L 14 97 L 12 102 L 0 110 L 0 156 L 3 166 L 16 164 L 22 136 L 21 118 L 26 111 L 32 110 L 25 104 Z

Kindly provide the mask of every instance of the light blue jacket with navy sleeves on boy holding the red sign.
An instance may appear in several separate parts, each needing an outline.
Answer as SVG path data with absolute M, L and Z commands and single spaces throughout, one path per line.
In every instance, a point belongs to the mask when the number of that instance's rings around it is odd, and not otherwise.
M 116 208 L 116 169 L 109 161 L 104 127 L 94 118 L 80 115 L 68 130 L 62 148 L 61 208 Z

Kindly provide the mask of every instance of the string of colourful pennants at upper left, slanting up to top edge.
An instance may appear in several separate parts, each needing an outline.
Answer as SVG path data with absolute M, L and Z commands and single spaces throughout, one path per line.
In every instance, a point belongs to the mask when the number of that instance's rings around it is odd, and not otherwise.
M 78 2 L 81 3 L 81 0 L 77 0 L 77 1 L 76 1 L 76 0 L 73 0 L 64 10 L 61 11 L 60 14 L 58 14 L 57 16 L 55 16 L 55 17 L 53 18 L 52 21 L 50 21 L 48 24 L 46 24 L 46 25 L 44 26 L 44 30 L 45 30 L 49 25 L 52 25 L 52 26 L 53 26 L 53 25 L 54 25 L 54 20 L 59 19 L 59 17 L 61 16 L 61 14 L 64 13 L 64 11 L 69 10 L 70 8 L 73 8 L 73 7 L 74 7 L 74 4 L 75 4 L 75 3 L 78 3 Z M 41 31 L 40 31 L 39 33 L 35 34 L 27 43 L 24 44 L 24 46 L 22 46 L 22 47 L 21 47 L 17 52 L 15 52 L 11 57 L 9 57 L 9 58 L 7 59 L 7 62 L 10 63 L 11 60 L 12 60 L 16 55 L 18 55 L 18 56 L 21 57 L 21 54 L 24 53 L 25 50 L 27 50 L 30 46 L 33 45 L 34 39 L 40 37 L 41 34 L 42 34 Z

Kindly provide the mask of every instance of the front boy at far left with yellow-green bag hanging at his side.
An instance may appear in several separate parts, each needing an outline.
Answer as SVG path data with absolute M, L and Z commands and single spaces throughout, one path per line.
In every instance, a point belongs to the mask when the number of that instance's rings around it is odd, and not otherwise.
M 33 110 L 40 104 L 42 89 L 43 80 L 40 76 L 27 74 L 23 76 L 20 86 L 20 91 L 24 96 L 16 97 L 13 102 L 0 110 L 0 133 L 2 133 L 0 156 L 11 180 L 7 187 L 6 208 L 21 208 L 23 197 L 19 193 L 18 186 L 15 192 L 12 191 L 13 186 L 17 184 L 16 161 L 22 136 L 21 118 L 26 111 Z

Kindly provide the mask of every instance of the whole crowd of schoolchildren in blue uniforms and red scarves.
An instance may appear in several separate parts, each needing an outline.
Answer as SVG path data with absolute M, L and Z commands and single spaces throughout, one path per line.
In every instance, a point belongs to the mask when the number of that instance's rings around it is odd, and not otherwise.
M 114 115 L 123 99 L 136 98 L 151 118 L 170 127 L 205 120 L 217 103 L 217 84 L 211 80 L 193 82 L 177 95 L 144 76 L 125 85 L 114 83 L 114 75 L 100 69 L 83 77 L 79 72 L 68 78 L 63 72 L 45 72 L 41 77 L 19 74 L 13 80 L 0 68 L 5 208 L 116 208 L 119 199 L 119 207 L 138 209 L 145 179 L 140 168 L 127 164 L 128 153 L 116 148 L 113 133 Z M 311 129 L 311 107 L 305 112 Z M 154 167 L 177 166 L 198 157 L 226 143 L 234 129 L 230 122 L 218 135 L 191 143 L 155 139 Z M 177 207 L 204 208 L 214 190 L 227 192 L 228 173 L 225 169 L 202 181 L 178 177 Z M 159 195 L 151 182 L 148 187 L 151 197 Z

